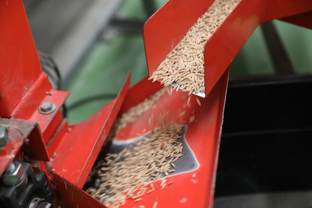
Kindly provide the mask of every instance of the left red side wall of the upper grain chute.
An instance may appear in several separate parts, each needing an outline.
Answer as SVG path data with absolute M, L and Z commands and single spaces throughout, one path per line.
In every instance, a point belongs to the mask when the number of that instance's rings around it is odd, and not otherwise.
M 144 25 L 150 76 L 213 0 L 168 0 Z

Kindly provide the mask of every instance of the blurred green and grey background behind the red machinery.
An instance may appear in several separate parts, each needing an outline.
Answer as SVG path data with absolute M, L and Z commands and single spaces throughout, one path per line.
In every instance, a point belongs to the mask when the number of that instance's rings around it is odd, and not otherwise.
M 132 84 L 148 75 L 142 27 L 166 0 L 24 0 L 39 51 L 57 64 L 70 107 L 90 96 L 117 94 L 128 74 Z M 312 72 L 312 31 L 274 20 L 296 73 Z M 231 64 L 230 75 L 275 74 L 259 26 Z M 105 97 L 105 96 L 103 96 Z M 81 121 L 111 100 L 99 96 L 68 110 L 70 123 Z

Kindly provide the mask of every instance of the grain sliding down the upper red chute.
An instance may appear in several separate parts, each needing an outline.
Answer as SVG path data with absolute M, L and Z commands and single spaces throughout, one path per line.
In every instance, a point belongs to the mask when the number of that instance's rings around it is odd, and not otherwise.
M 204 47 L 240 0 L 215 0 L 166 56 L 150 79 L 183 91 L 205 92 Z M 213 53 L 213 51 L 211 51 Z

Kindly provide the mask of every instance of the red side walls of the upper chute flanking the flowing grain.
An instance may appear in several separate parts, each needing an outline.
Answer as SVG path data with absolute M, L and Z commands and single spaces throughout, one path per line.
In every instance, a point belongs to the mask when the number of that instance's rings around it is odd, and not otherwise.
M 213 1 L 170 0 L 151 16 L 143 30 L 150 76 Z M 203 54 L 205 96 L 260 23 L 311 10 L 310 0 L 241 0 L 206 42 Z M 301 16 L 295 23 L 311 25 L 311 14 L 307 17 Z

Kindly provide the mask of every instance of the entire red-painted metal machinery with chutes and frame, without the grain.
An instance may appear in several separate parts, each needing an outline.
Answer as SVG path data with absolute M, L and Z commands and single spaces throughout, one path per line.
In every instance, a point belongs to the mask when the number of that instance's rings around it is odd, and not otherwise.
M 213 0 L 169 0 L 146 23 L 144 38 L 150 74 Z M 212 207 L 214 177 L 228 81 L 228 65 L 257 25 L 279 18 L 312 28 L 310 0 L 242 0 L 206 44 L 206 98 L 192 95 L 178 124 L 185 124 L 198 167 L 172 175 L 174 184 L 145 196 L 140 205 Z M 21 0 L 0 0 L 0 207 L 101 208 L 83 190 L 86 179 L 117 115 L 161 88 L 147 79 L 130 87 L 83 122 L 69 125 L 61 107 L 68 92 L 54 90 L 41 70 Z M 209 76 L 207 76 L 209 74 Z M 144 90 L 142 90 L 144 89 Z M 140 93 L 138 93 L 140 92 Z M 184 109 L 184 92 L 165 95 L 116 139 L 151 130 L 148 119 L 162 109 L 169 117 Z M 172 105 L 172 103 L 174 105 Z M 123 136 L 121 136 L 123 135 Z M 116 181 L 118 183 L 118 181 Z M 124 207 L 133 207 L 127 200 Z

